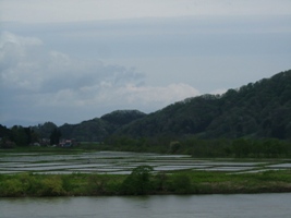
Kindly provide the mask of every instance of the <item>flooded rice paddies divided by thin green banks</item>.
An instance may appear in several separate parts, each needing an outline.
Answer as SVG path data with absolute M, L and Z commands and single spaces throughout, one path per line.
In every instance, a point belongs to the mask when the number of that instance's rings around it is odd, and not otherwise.
M 186 155 L 95 152 L 77 155 L 54 153 L 2 153 L 0 173 L 108 173 L 129 174 L 142 165 L 155 171 L 206 170 L 230 173 L 291 169 L 291 160 L 196 159 Z

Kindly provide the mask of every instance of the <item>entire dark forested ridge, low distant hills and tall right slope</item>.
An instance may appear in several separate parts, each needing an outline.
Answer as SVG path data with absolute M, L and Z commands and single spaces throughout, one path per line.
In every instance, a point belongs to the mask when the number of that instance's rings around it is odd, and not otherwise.
M 41 137 L 49 137 L 56 128 L 52 122 L 47 122 L 33 126 L 33 130 Z M 2 129 L 4 135 L 7 130 Z M 81 142 L 102 142 L 110 136 L 167 135 L 291 140 L 291 70 L 229 89 L 222 95 L 187 98 L 149 114 L 138 110 L 116 110 L 77 124 L 65 123 L 58 129 L 63 138 Z

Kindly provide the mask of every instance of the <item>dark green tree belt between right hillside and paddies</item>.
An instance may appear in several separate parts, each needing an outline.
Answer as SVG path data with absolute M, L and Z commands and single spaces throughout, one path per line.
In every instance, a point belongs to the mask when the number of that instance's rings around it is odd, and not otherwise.
M 291 157 L 291 142 L 278 138 L 216 138 L 172 136 L 131 138 L 112 137 L 106 141 L 109 149 L 183 154 L 193 157 L 287 158 Z

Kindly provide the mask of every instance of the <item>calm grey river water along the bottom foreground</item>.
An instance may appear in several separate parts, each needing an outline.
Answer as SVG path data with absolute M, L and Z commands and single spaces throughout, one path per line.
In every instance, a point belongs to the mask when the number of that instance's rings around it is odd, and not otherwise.
M 291 193 L 0 198 L 1 218 L 290 218 Z

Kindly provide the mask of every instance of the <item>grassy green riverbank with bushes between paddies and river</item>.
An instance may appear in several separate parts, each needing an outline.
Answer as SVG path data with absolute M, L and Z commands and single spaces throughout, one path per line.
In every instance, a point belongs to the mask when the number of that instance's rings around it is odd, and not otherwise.
M 98 196 L 150 194 L 234 194 L 291 192 L 291 171 L 257 173 L 180 171 L 151 173 L 137 167 L 130 175 L 0 174 L 0 196 Z

